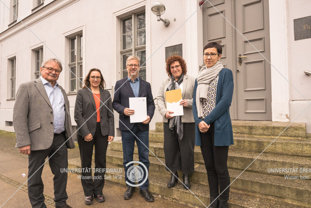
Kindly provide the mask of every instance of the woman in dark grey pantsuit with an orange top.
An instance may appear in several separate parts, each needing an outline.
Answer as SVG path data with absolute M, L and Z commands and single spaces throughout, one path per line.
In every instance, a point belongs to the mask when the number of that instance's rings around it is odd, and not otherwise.
M 81 183 L 85 204 L 105 201 L 103 195 L 106 152 L 108 142 L 114 138 L 114 115 L 110 93 L 104 89 L 105 81 L 99 69 L 91 69 L 78 91 L 75 105 L 77 141 L 81 157 Z M 91 169 L 95 146 L 95 171 Z M 93 181 L 94 180 L 94 181 Z

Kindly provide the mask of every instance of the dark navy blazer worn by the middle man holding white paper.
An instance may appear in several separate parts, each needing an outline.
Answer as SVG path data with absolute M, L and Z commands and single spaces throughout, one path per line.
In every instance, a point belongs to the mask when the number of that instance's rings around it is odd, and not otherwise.
M 123 85 L 123 83 L 125 84 Z M 121 86 L 122 85 L 122 86 Z M 120 87 L 121 86 L 121 87 Z M 120 88 L 120 89 L 119 89 Z M 114 87 L 114 101 L 112 102 L 112 106 L 115 111 L 119 113 L 119 129 L 122 131 L 128 131 L 128 129 L 132 129 L 134 126 L 134 123 L 130 123 L 130 117 L 127 115 L 124 115 L 124 109 L 129 108 L 129 99 L 133 98 L 134 93 L 131 88 L 130 83 L 128 82 L 128 78 L 123 78 L 122 80 L 119 80 L 116 82 L 116 85 Z M 139 79 L 139 93 L 138 97 L 146 97 L 147 99 L 147 115 L 150 116 L 150 120 L 153 117 L 153 114 L 155 112 L 156 106 L 155 102 L 153 101 L 152 93 L 151 93 L 151 85 L 149 82 L 146 82 L 145 80 Z M 121 123 L 121 121 L 123 123 Z M 149 123 L 143 124 L 143 123 L 137 123 L 138 127 L 141 131 L 147 131 L 149 130 Z M 126 128 L 126 126 L 128 128 Z

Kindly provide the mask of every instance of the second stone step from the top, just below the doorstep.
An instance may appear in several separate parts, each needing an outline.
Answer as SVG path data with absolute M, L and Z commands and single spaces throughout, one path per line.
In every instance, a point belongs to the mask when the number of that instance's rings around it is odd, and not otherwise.
M 234 145 L 229 150 L 262 152 L 275 138 L 234 134 Z M 150 130 L 149 142 L 163 143 L 163 132 Z M 311 157 L 311 140 L 277 138 L 265 153 Z

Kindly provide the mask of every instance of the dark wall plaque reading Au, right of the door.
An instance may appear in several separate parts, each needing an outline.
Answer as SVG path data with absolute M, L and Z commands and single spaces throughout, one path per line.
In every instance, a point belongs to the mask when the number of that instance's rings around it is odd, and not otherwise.
M 311 16 L 294 19 L 295 41 L 311 38 Z

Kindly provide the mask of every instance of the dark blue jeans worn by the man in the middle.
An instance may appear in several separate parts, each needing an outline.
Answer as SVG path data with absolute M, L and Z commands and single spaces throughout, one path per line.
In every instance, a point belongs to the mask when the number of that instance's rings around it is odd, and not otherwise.
M 134 133 L 134 135 L 132 133 Z M 136 138 L 136 136 L 139 138 L 139 140 Z M 141 131 L 137 125 L 137 123 L 134 124 L 133 128 L 131 131 L 122 131 L 121 132 L 122 136 L 122 147 L 123 147 L 123 166 L 124 166 L 124 172 L 125 172 L 125 181 L 128 181 L 130 184 L 134 184 L 132 181 L 128 179 L 127 176 L 127 171 L 128 168 L 133 165 L 130 164 L 127 167 L 125 166 L 128 162 L 133 161 L 133 154 L 134 154 L 134 146 L 135 146 L 135 141 L 137 144 L 138 148 L 138 158 L 139 162 L 142 162 L 148 172 L 149 172 L 149 131 Z M 139 166 L 142 168 L 144 172 L 144 177 L 142 178 L 141 181 L 138 181 L 138 184 L 142 183 L 142 181 L 145 179 L 146 176 L 146 171 L 145 168 L 142 167 L 140 164 Z M 127 185 L 129 186 L 129 185 Z M 141 186 L 139 186 L 140 190 L 148 189 L 149 186 L 149 179 L 145 181 Z

